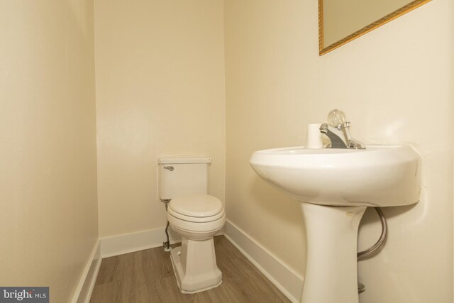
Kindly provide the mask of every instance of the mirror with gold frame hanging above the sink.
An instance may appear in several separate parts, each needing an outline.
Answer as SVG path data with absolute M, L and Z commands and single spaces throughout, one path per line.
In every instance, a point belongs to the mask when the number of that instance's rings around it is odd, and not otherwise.
M 402 16 L 431 0 L 319 0 L 319 54 Z

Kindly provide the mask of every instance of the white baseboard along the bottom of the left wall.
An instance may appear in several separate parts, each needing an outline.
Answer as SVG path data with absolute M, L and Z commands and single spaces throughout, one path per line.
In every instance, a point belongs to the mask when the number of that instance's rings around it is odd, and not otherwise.
M 89 303 L 92 297 L 94 283 L 98 276 L 99 268 L 101 267 L 101 241 L 96 241 L 92 254 L 90 255 L 89 261 L 85 266 L 82 277 L 79 280 L 74 296 L 72 297 L 72 303 Z

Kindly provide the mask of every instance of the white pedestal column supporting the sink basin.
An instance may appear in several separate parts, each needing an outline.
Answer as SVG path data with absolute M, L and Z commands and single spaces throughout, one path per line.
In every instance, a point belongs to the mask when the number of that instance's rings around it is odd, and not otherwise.
M 367 206 L 301 203 L 307 261 L 301 303 L 358 303 L 358 226 Z

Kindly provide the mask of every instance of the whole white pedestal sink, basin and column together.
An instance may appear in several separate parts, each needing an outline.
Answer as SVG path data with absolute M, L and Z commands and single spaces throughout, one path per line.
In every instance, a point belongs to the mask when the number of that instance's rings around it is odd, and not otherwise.
M 358 226 L 367 206 L 419 201 L 420 158 L 409 145 L 275 148 L 253 153 L 263 179 L 301 202 L 307 233 L 304 303 L 358 301 Z

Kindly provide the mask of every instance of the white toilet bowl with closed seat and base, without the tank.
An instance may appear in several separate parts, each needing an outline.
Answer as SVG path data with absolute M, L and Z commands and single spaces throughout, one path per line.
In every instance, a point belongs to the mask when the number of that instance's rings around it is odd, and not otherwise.
M 172 199 L 167 219 L 182 236 L 182 246 L 170 255 L 180 290 L 195 293 L 220 285 L 222 272 L 216 264 L 213 236 L 226 222 L 222 202 L 207 194 Z

